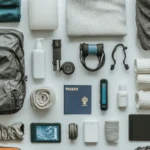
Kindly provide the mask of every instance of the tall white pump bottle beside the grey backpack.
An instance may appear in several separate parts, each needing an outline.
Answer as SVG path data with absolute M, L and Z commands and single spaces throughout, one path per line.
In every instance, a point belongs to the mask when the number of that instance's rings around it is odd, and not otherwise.
M 42 38 L 37 39 L 36 49 L 33 51 L 33 78 L 45 78 L 45 51 L 42 45 Z

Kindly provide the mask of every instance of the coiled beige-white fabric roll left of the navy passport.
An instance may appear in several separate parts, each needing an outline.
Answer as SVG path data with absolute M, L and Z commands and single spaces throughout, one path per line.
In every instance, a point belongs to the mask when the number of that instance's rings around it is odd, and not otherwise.
M 55 93 L 51 88 L 48 87 L 37 87 L 31 95 L 31 106 L 36 110 L 47 110 L 55 101 Z

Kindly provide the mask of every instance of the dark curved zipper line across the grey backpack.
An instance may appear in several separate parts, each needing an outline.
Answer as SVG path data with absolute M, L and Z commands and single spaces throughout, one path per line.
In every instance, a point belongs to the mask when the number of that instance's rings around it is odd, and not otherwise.
M 14 50 L 12 49 L 12 48 L 10 48 L 10 47 L 6 47 L 6 46 L 0 46 L 0 49 L 5 49 L 5 50 L 7 50 L 7 51 L 9 51 L 9 52 L 11 52 L 14 56 L 15 56 L 15 58 L 17 59 L 17 61 L 18 61 L 18 63 L 19 63 L 19 67 L 20 67 L 20 71 L 21 71 L 21 79 L 20 79 L 20 81 L 22 80 L 22 79 L 24 79 L 24 72 L 23 72 L 23 67 L 22 67 L 22 65 L 21 65 L 21 62 L 20 62 L 20 59 L 19 59 L 19 57 L 18 57 L 18 55 L 14 52 Z M 19 82 L 20 82 L 19 81 Z

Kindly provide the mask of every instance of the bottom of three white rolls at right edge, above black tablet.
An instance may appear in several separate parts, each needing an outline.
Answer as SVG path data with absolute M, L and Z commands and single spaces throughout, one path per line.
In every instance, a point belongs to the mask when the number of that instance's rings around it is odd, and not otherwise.
M 150 109 L 150 91 L 139 91 L 136 93 L 137 109 Z

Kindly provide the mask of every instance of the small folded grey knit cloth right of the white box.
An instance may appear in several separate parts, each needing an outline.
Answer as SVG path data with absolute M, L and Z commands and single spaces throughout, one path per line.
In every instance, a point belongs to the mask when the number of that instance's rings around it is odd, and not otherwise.
M 119 122 L 105 121 L 105 138 L 108 142 L 118 142 L 119 140 Z

